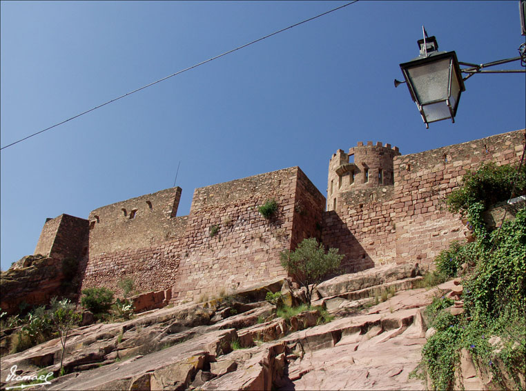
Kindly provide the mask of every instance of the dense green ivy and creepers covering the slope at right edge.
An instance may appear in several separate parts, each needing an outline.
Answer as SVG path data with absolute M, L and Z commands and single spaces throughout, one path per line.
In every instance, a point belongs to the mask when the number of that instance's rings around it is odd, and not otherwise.
M 427 308 L 428 325 L 436 334 L 422 350 L 420 374 L 429 374 L 435 390 L 454 388 L 462 349 L 491 371 L 498 387 L 521 388 L 518 374 L 526 370 L 526 209 L 493 232 L 482 219 L 489 205 L 508 199 L 512 179 L 519 189 L 514 195 L 524 192 L 524 171 L 520 179 L 514 172 L 509 166 L 485 165 L 466 174 L 464 186 L 447 200 L 452 211 L 467 215 L 476 241 L 452 243 L 436 259 L 438 272 L 448 277 L 456 276 L 464 263 L 471 268 L 462 274 L 463 314 L 454 317 L 445 311 L 452 304 L 446 298 Z

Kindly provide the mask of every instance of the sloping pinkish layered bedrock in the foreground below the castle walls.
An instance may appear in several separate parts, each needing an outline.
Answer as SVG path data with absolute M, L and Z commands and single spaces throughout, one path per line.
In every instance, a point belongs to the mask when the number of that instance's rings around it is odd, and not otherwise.
M 401 290 L 410 285 L 403 281 L 418 278 L 411 277 L 414 268 L 381 270 L 360 274 L 361 285 L 355 275 L 326 281 L 320 296 L 329 296 L 318 302 L 336 319 L 325 324 L 318 310 L 282 319 L 265 301 L 227 298 L 79 328 L 66 348 L 70 374 L 46 390 L 422 390 L 421 381 L 408 377 L 426 341 L 422 309 L 451 289 Z M 368 296 L 393 286 L 400 290 L 378 304 Z M 56 373 L 59 353 L 55 339 L 2 357 L 0 369 Z

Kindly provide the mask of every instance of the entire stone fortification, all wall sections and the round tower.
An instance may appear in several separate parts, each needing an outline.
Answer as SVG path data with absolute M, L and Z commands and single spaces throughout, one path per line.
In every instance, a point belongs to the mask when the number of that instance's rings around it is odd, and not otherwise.
M 369 141 L 329 161 L 327 201 L 298 167 L 237 179 L 193 194 L 176 217 L 181 188 L 106 205 L 88 219 L 48 219 L 35 254 L 79 259 L 81 289 L 133 279 L 179 303 L 287 273 L 280 252 L 315 237 L 344 254 L 342 272 L 383 263 L 430 263 L 465 237 L 444 199 L 485 161 L 518 163 L 524 130 L 417 154 Z M 265 219 L 258 208 L 275 200 Z M 326 210 L 327 209 L 327 210 Z

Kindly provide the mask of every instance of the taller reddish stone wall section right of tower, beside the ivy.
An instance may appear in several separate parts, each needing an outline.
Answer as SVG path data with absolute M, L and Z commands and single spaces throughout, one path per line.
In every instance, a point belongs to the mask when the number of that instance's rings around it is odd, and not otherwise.
M 466 228 L 447 210 L 445 197 L 462 184 L 467 170 L 487 161 L 516 164 L 525 142 L 524 130 L 497 134 L 467 143 L 395 159 L 397 262 L 430 263 Z

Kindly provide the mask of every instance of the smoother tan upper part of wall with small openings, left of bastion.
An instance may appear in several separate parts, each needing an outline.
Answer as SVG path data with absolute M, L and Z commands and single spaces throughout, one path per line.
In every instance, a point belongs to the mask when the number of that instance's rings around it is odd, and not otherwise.
M 90 259 L 122 250 L 139 250 L 181 236 L 176 219 L 181 188 L 169 188 L 93 210 L 90 221 Z

